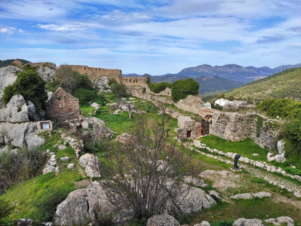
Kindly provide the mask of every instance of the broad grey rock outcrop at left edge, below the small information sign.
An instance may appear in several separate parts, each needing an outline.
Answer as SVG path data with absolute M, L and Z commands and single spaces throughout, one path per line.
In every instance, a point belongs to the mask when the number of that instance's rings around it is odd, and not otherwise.
M 20 148 L 37 149 L 45 143 L 45 139 L 36 135 L 36 123 L 24 122 L 12 124 L 9 122 L 0 123 L 0 134 L 4 136 L 4 143 Z

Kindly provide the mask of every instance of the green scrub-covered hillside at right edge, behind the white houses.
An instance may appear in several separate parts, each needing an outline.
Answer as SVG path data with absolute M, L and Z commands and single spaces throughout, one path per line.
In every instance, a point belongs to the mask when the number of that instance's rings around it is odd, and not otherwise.
M 229 90 L 225 96 L 253 99 L 301 99 L 301 67 L 295 67 Z

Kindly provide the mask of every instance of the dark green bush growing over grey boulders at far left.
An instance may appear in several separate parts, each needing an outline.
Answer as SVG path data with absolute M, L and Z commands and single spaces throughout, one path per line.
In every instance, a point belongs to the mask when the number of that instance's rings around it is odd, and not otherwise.
M 12 96 L 20 94 L 25 100 L 33 102 L 36 108 L 42 108 L 48 99 L 45 91 L 46 82 L 35 70 L 20 71 L 17 80 L 5 87 L 2 102 L 7 104 Z

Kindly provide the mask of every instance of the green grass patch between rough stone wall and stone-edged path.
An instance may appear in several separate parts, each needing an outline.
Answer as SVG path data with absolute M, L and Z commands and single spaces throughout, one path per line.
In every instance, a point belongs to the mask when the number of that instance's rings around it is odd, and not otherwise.
M 209 135 L 201 137 L 199 139 L 204 144 L 212 149 L 217 149 L 223 152 L 233 152 L 240 154 L 248 159 L 253 159 L 257 161 L 267 161 L 268 150 L 261 148 L 258 144 L 254 143 L 252 138 L 248 137 L 242 141 L 232 142 L 222 139 L 220 137 Z M 252 154 L 259 154 L 259 156 L 253 156 Z

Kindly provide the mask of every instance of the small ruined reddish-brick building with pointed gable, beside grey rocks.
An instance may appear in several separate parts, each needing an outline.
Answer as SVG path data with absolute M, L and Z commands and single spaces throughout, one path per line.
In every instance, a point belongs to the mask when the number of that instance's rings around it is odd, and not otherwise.
M 46 117 L 62 122 L 79 118 L 79 100 L 59 87 L 46 104 Z

